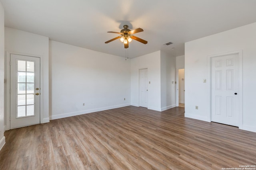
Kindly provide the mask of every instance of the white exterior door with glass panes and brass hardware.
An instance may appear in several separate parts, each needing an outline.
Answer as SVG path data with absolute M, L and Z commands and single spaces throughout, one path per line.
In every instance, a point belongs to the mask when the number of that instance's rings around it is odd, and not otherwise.
M 40 123 L 40 58 L 10 55 L 10 129 Z

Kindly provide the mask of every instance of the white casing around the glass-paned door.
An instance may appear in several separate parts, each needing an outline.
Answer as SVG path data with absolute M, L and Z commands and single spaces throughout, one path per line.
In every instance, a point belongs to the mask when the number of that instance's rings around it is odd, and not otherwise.
M 19 52 L 12 52 L 12 51 L 6 51 L 6 130 L 10 130 L 10 56 L 11 54 L 14 55 L 24 55 L 29 57 L 38 57 L 40 58 L 40 123 L 43 122 L 43 56 L 42 55 L 34 55 L 34 54 L 27 54 L 27 53 L 19 53 Z

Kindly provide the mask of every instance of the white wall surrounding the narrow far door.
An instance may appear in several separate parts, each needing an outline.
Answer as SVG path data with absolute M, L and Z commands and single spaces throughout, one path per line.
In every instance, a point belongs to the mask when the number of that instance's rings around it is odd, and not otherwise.
M 139 69 L 148 68 L 148 109 L 161 111 L 160 51 L 131 59 L 131 105 L 139 106 Z

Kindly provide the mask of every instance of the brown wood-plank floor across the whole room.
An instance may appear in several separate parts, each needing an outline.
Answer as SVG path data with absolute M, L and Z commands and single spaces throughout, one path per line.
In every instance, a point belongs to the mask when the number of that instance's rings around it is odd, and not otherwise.
M 256 133 L 122 107 L 4 133 L 1 170 L 221 170 L 256 164 Z

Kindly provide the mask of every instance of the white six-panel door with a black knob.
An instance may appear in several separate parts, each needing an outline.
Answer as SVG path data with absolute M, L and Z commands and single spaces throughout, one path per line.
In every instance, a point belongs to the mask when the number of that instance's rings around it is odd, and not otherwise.
M 239 125 L 238 54 L 212 57 L 212 121 Z

